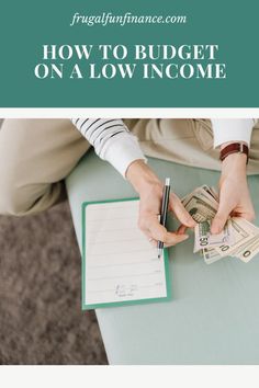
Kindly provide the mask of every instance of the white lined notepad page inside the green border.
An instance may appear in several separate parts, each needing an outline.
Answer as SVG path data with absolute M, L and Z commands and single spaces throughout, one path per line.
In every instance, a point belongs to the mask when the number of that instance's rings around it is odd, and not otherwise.
M 85 304 L 167 296 L 165 258 L 137 228 L 139 201 L 86 206 Z

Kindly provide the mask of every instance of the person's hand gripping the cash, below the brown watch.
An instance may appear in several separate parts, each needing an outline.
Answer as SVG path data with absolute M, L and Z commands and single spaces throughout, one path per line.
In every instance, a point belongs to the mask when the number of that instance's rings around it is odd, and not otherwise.
M 255 219 L 255 210 L 247 184 L 246 160 L 244 153 L 229 155 L 222 163 L 219 180 L 219 206 L 212 221 L 212 233 L 219 233 L 229 216 Z

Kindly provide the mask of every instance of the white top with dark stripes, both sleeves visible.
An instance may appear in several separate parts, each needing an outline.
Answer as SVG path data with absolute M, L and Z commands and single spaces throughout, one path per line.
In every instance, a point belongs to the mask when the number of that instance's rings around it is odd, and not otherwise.
M 94 147 L 97 155 L 109 161 L 123 176 L 134 160 L 146 160 L 137 138 L 122 119 L 74 118 L 72 123 Z M 227 141 L 245 141 L 249 146 L 254 125 L 252 118 L 213 118 L 214 147 Z

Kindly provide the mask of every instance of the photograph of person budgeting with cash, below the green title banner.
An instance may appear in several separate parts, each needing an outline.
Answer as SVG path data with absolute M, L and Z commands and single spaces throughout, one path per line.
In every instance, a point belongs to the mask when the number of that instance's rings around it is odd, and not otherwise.
M 257 118 L 5 118 L 0 362 L 259 357 Z

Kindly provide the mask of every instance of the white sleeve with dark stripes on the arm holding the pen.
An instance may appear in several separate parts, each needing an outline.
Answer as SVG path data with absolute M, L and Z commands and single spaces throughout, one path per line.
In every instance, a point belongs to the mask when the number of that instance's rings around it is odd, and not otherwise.
M 124 178 L 134 160 L 146 161 L 136 136 L 121 118 L 72 118 L 72 124 L 94 147 L 97 155 Z

